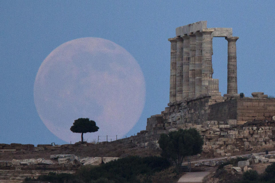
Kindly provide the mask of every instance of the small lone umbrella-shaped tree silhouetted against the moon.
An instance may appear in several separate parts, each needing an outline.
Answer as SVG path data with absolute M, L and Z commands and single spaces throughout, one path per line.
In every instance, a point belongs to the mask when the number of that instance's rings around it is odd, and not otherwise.
M 93 120 L 89 118 L 78 118 L 74 120 L 70 130 L 74 133 L 81 133 L 81 142 L 83 142 L 83 133 L 97 132 L 99 127 L 96 126 Z

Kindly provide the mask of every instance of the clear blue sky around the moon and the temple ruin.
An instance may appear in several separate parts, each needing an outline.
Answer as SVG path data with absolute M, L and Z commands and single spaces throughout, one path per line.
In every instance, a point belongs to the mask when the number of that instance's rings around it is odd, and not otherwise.
M 127 134 L 169 102 L 170 42 L 176 27 L 207 21 L 232 27 L 237 40 L 238 92 L 275 96 L 274 1 L 1 1 L 0 143 L 64 144 L 43 124 L 33 87 L 42 61 L 81 37 L 108 39 L 139 63 L 146 82 L 142 115 Z M 213 39 L 213 78 L 227 86 L 227 41 Z

